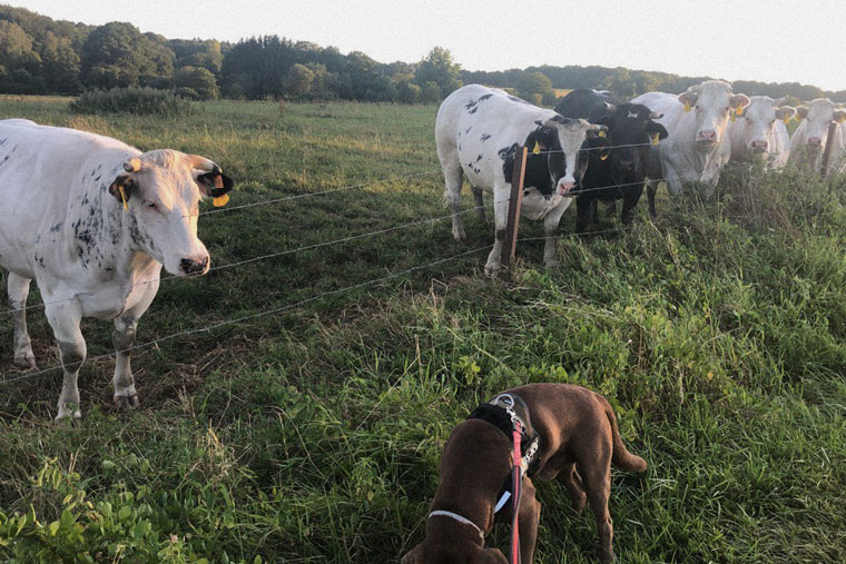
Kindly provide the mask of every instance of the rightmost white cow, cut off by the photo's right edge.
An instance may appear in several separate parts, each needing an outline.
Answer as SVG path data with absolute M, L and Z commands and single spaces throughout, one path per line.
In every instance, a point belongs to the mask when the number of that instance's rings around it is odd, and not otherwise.
M 827 98 L 817 98 L 807 106 L 796 108 L 796 112 L 803 122 L 796 128 L 790 139 L 789 162 L 810 166 L 815 171 L 819 170 L 820 159 L 828 142 L 828 126 L 835 121 L 839 126 L 835 131 L 826 174 L 843 172 L 844 164 L 840 160 L 846 148 L 846 125 L 844 125 L 846 109 L 837 108 Z

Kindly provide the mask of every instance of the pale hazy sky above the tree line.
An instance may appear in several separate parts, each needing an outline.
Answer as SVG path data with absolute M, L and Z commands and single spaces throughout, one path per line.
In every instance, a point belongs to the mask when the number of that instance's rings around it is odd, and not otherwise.
M 169 39 L 258 34 L 415 62 L 435 46 L 468 70 L 599 65 L 846 89 L 836 0 L 0 0 L 53 19 L 129 21 Z

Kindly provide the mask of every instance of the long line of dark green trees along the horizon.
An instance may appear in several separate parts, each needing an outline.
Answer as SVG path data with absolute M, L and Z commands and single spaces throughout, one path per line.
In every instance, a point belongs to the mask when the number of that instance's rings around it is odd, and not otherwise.
M 0 92 L 78 95 L 86 90 L 150 87 L 185 98 L 343 99 L 435 103 L 462 83 L 511 89 L 552 106 L 554 89 L 598 88 L 622 99 L 647 91 L 681 92 L 708 77 L 608 67 L 541 66 L 503 71 L 463 70 L 435 47 L 421 61 L 383 63 L 361 51 L 278 36 L 237 43 L 167 39 L 127 22 L 87 26 L 0 6 Z M 798 82 L 732 82 L 735 91 L 846 102 L 846 90 Z

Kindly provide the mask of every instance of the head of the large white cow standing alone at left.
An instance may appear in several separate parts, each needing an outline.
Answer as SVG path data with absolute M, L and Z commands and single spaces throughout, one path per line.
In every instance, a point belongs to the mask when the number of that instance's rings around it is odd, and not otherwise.
M 132 157 L 122 168 L 109 192 L 125 208 L 132 246 L 175 276 L 208 271 L 208 251 L 197 238 L 199 200 L 224 196 L 232 179 L 204 157 L 169 149 Z

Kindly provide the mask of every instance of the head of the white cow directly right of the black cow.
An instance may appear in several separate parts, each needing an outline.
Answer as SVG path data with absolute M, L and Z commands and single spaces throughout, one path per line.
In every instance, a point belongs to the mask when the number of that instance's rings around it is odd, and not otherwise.
M 732 93 L 731 85 L 721 80 L 692 86 L 679 95 L 679 101 L 696 111 L 695 140 L 705 147 L 720 142 L 731 110 L 742 111 L 749 106 L 747 96 Z

